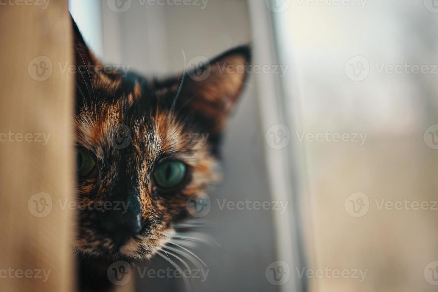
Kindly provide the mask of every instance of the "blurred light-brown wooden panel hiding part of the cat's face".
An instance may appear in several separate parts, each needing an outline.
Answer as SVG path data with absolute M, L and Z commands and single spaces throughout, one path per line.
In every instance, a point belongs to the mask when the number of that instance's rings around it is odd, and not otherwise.
M 67 1 L 3 3 L 0 287 L 71 291 L 73 212 L 58 201 L 73 195 L 73 79 L 59 67 L 71 60 Z

